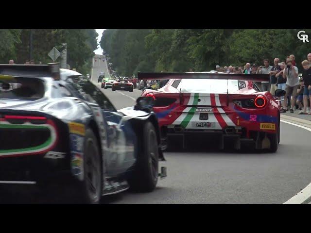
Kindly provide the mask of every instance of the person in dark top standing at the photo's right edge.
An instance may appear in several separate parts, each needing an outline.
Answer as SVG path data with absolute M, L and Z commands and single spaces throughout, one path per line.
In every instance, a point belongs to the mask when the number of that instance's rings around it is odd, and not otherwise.
M 304 60 L 301 65 L 303 66 L 302 79 L 305 87 L 303 91 L 303 112 L 299 114 L 307 114 L 308 97 L 311 100 L 311 67 L 308 60 Z M 308 114 L 311 115 L 310 112 Z

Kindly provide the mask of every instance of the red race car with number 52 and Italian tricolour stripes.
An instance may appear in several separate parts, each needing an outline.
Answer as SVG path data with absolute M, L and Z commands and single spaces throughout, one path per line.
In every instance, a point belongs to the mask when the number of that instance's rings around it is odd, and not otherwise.
M 179 138 L 185 148 L 195 137 L 217 138 L 219 148 L 255 149 L 275 152 L 280 141 L 280 104 L 285 91 L 261 92 L 256 81 L 269 81 L 267 74 L 227 73 L 138 73 L 138 80 L 169 80 L 142 96 L 155 100 L 154 111 L 161 129 L 161 146 Z M 174 140 L 173 140 L 174 139 Z

